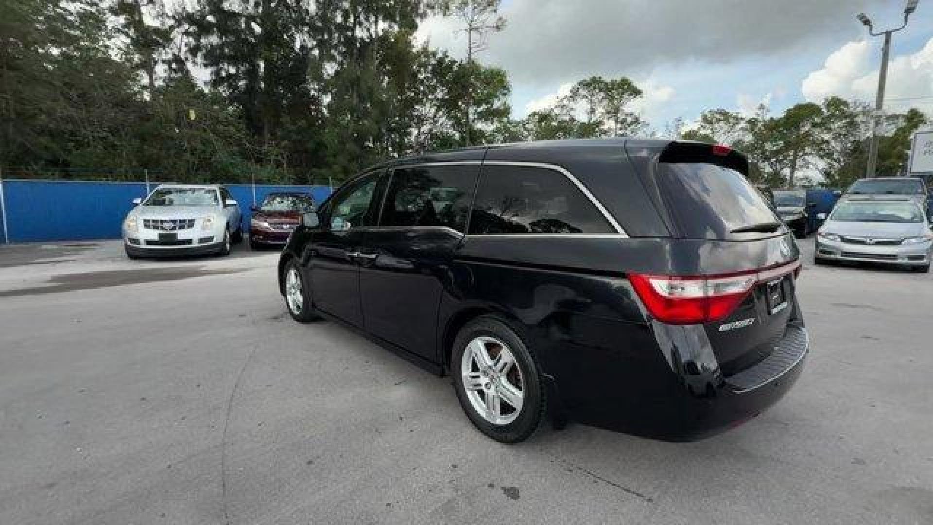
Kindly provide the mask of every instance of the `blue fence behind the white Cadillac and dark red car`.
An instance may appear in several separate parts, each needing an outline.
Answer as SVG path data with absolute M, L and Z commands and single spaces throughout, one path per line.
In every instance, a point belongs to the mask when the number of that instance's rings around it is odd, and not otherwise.
M 132 209 L 132 199 L 146 196 L 143 182 L 85 182 L 72 180 L 4 180 L 6 221 L 0 220 L 0 243 L 108 239 L 120 236 L 120 225 Z M 157 184 L 150 185 L 154 190 Z M 227 184 L 243 210 L 244 225 L 250 218 L 254 187 Z M 255 187 L 256 203 L 271 192 L 307 192 L 321 203 L 330 194 L 327 186 Z M 0 216 L 2 218 L 3 216 Z

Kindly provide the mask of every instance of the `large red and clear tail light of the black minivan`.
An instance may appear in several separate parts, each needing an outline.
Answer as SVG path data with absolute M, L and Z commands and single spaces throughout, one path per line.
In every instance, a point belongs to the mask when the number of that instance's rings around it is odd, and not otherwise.
M 648 313 L 667 324 L 699 324 L 728 318 L 755 285 L 794 273 L 801 263 L 724 276 L 629 274 Z

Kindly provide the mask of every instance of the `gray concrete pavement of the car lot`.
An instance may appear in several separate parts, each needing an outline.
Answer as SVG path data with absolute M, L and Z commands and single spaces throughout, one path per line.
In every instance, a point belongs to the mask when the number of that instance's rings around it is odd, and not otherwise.
M 933 523 L 929 275 L 808 263 L 807 369 L 730 433 L 506 446 L 449 379 L 292 322 L 276 258 L 0 247 L 0 523 Z

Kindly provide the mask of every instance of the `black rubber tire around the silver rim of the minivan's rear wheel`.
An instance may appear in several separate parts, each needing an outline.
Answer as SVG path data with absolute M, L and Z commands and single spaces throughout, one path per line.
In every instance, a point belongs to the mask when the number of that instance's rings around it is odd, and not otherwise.
M 498 425 L 485 419 L 473 406 L 466 394 L 461 363 L 467 345 L 475 338 L 487 336 L 504 343 L 515 358 L 522 377 L 522 408 L 518 416 L 508 424 Z M 496 316 L 481 316 L 468 322 L 453 342 L 451 376 L 460 406 L 466 417 L 481 433 L 500 443 L 519 443 L 528 439 L 544 419 L 547 410 L 547 394 L 541 382 L 540 366 L 535 354 L 524 344 L 522 338 L 508 326 L 504 319 Z M 486 395 L 486 394 L 484 394 Z

